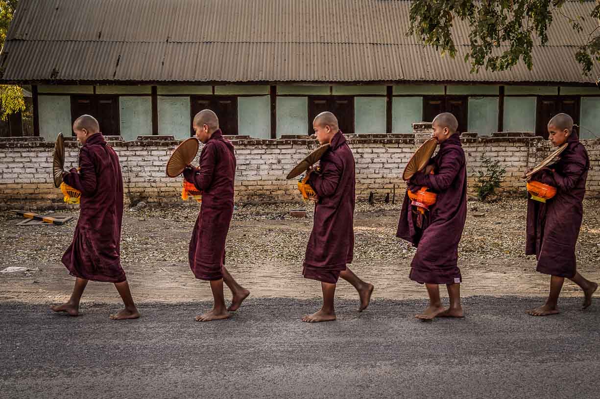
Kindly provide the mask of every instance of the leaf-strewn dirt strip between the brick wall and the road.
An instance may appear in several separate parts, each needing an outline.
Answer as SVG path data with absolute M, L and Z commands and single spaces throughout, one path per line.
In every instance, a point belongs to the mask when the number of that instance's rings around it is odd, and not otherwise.
M 306 208 L 307 218 L 289 216 Z M 586 200 L 577 247 L 578 267 L 600 280 L 600 202 Z M 302 260 L 312 228 L 311 203 L 238 206 L 227 240 L 230 271 L 253 296 L 309 298 L 320 294 L 315 281 L 301 276 Z M 422 298 L 424 287 L 407 276 L 415 249 L 395 237 L 400 204 L 358 203 L 355 214 L 353 271 L 375 284 L 375 297 Z M 187 249 L 197 206 L 143 208 L 125 211 L 121 254 L 137 301 L 178 302 L 209 299 L 208 284 L 194 280 Z M 56 212 L 71 214 L 73 212 Z M 475 216 L 477 214 L 478 216 Z M 460 245 L 464 295 L 545 295 L 548 277 L 535 272 L 535 258 L 524 255 L 526 202 L 469 202 L 467 225 Z M 0 220 L 0 268 L 38 268 L 29 274 L 0 274 L 0 300 L 28 302 L 68 298 L 73 278 L 60 263 L 73 236 L 76 220 L 65 226 L 15 226 Z M 338 295 L 353 297 L 341 282 Z M 580 295 L 565 284 L 565 295 Z M 118 301 L 112 284 L 89 284 L 85 298 Z

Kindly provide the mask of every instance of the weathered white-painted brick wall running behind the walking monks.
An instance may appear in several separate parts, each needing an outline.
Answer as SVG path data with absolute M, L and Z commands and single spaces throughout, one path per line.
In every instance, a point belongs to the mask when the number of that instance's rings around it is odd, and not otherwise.
M 356 194 L 365 199 L 371 192 L 376 199 L 395 190 L 401 200 L 405 185 L 400 178 L 410 156 L 431 134 L 431 124 L 414 124 L 413 134 L 349 135 L 350 148 L 356 159 Z M 236 148 L 236 201 L 299 200 L 296 181 L 285 176 L 316 142 L 308 137 L 284 136 L 277 140 L 257 140 L 250 137 L 230 137 Z M 126 202 L 143 199 L 152 203 L 181 201 L 182 178 L 168 178 L 165 165 L 178 145 L 170 136 L 142 136 L 134 142 L 120 137 L 107 137 L 121 160 Z M 481 157 L 500 160 L 506 167 L 502 182 L 505 193 L 524 192 L 520 179 L 523 171 L 542 160 L 551 145 L 540 137 L 527 133 L 496 133 L 489 137 L 463 133 L 463 148 L 467 155 L 469 192 L 475 192 Z M 600 196 L 600 140 L 583 140 L 593 169 L 588 177 L 589 196 Z M 68 140 L 65 169 L 77 166 L 77 143 Z M 62 194 L 53 186 L 50 169 L 53 143 L 37 137 L 0 139 L 0 209 L 49 208 L 66 206 Z M 197 159 L 196 159 L 197 164 Z

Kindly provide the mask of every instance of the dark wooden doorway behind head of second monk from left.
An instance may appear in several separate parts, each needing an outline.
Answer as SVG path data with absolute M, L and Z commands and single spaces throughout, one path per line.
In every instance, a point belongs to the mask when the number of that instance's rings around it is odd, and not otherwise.
M 203 109 L 212 110 L 219 118 L 219 127 L 223 134 L 236 135 L 238 134 L 238 98 L 215 96 L 215 95 L 198 95 L 191 97 L 191 119 L 190 131 L 191 136 L 194 136 L 194 128 L 191 126 L 194 122 L 194 116 Z

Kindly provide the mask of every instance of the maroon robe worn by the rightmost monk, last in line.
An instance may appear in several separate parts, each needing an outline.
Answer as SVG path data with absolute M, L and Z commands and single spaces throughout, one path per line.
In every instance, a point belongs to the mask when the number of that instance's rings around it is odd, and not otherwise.
M 551 169 L 542 169 L 532 180 L 556 187 L 556 196 L 545 203 L 527 200 L 525 253 L 538 259 L 537 271 L 572 278 L 577 273 L 575 244 L 583 219 L 590 160 L 586 148 L 573 132 L 568 147 Z

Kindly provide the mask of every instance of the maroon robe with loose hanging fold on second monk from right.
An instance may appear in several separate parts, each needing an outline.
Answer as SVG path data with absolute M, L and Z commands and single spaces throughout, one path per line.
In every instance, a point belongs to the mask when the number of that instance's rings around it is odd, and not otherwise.
M 436 203 L 429 207 L 419 228 L 406 194 L 397 236 L 417 248 L 410 264 L 410 280 L 421 284 L 461 283 L 457 261 L 458 243 L 467 218 L 467 170 L 458 134 L 440 144 L 430 164 L 434 165 L 435 174 L 415 173 L 409 187 L 413 184 L 429 187 L 437 193 Z

